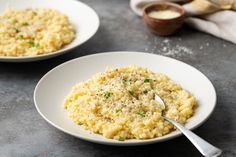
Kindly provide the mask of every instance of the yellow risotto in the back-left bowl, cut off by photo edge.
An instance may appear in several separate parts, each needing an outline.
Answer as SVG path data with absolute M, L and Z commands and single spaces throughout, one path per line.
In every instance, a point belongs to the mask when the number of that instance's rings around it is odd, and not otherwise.
M 0 21 L 0 56 L 46 54 L 75 38 L 68 17 L 53 9 L 8 9 Z

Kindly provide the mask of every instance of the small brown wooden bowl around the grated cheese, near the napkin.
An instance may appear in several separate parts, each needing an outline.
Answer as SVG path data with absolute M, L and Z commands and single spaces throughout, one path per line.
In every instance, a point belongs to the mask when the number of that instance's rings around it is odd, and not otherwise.
M 170 19 L 157 19 L 148 15 L 153 10 L 173 10 L 180 13 L 180 16 Z M 185 11 L 183 7 L 175 3 L 157 2 L 149 4 L 144 8 L 143 19 L 153 33 L 167 36 L 175 33 L 181 28 L 185 19 Z

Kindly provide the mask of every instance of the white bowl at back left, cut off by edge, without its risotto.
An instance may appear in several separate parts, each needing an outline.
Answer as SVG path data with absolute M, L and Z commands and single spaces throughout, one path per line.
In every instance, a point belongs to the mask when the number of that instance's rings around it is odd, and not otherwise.
M 29 57 L 0 56 L 2 62 L 31 62 L 61 55 L 89 40 L 99 27 L 97 13 L 86 4 L 76 0 L 0 0 L 0 14 L 7 8 L 24 9 L 27 7 L 52 8 L 64 13 L 69 17 L 69 21 L 76 30 L 75 39 L 72 43 L 53 53 Z

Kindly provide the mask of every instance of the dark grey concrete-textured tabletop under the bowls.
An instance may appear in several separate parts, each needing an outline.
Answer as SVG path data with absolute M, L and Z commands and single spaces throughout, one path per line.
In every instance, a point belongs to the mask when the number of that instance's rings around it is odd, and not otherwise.
M 201 156 L 184 136 L 138 147 L 86 142 L 57 130 L 37 113 L 34 87 L 50 69 L 76 57 L 119 50 L 176 58 L 209 77 L 217 91 L 217 106 L 209 120 L 194 132 L 223 149 L 223 157 L 235 157 L 236 45 L 187 26 L 171 37 L 155 36 L 130 10 L 128 0 L 83 2 L 93 7 L 101 20 L 98 32 L 87 43 L 41 62 L 0 63 L 0 157 Z

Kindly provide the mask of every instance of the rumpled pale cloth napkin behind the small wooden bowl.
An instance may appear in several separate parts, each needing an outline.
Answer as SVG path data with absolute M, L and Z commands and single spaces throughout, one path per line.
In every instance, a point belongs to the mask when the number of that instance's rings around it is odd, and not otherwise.
M 145 5 L 158 1 L 163 0 L 131 0 L 130 6 L 137 15 L 142 16 Z M 236 10 L 236 0 L 166 1 L 185 3 L 183 7 L 189 16 L 185 22 L 189 26 L 236 44 L 236 12 L 233 11 Z

